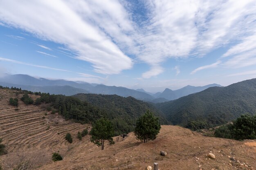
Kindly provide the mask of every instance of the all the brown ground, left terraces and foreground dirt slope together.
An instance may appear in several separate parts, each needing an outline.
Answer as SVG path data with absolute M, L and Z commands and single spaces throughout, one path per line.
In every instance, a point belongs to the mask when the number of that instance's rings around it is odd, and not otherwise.
M 4 168 L 16 165 L 21 160 L 34 163 L 40 170 L 146 170 L 147 166 L 159 163 L 160 170 L 255 170 L 256 140 L 243 142 L 204 137 L 180 126 L 162 126 L 157 139 L 148 143 L 136 140 L 133 133 L 128 137 L 114 137 L 112 146 L 105 149 L 90 142 L 90 136 L 76 139 L 76 133 L 88 125 L 65 121 L 61 116 L 51 115 L 40 107 L 25 106 L 19 101 L 18 111 L 8 105 L 10 90 L 0 89 L 0 137 L 8 146 L 8 154 L 0 159 Z M 45 119 L 42 117 L 45 116 Z M 56 124 L 58 122 L 58 124 Z M 50 126 L 49 130 L 47 126 Z M 57 134 L 57 131 L 60 134 Z M 73 143 L 64 137 L 70 132 Z M 160 156 L 164 150 L 167 155 Z M 51 161 L 53 152 L 59 151 L 63 161 Z M 232 163 L 230 157 L 239 162 Z M 207 157 L 213 153 L 216 159 Z

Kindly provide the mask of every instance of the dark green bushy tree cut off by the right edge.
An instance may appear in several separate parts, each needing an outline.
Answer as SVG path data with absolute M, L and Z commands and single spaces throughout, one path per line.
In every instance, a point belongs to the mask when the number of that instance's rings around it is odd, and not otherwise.
M 246 113 L 234 120 L 233 124 L 235 139 L 256 139 L 256 115 Z

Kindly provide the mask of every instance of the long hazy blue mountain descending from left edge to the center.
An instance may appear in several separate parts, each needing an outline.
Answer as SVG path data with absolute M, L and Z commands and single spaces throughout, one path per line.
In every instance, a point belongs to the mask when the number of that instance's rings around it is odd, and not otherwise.
M 11 86 L 16 85 L 16 87 L 21 87 L 22 89 L 26 89 L 30 91 L 38 91 L 40 89 L 42 90 L 41 92 L 49 92 L 51 94 L 55 92 L 57 92 L 56 94 L 60 94 L 61 91 L 60 92 L 56 91 L 56 87 L 52 87 L 53 89 L 51 89 L 50 86 L 70 86 L 70 87 L 78 88 L 78 89 L 72 89 L 71 90 L 72 92 L 77 91 L 79 93 L 117 94 L 123 97 L 132 96 L 136 99 L 145 100 L 145 101 L 150 101 L 155 99 L 150 94 L 147 94 L 145 92 L 138 92 L 136 90 L 128 89 L 125 87 L 107 86 L 107 85 L 95 84 L 95 83 L 89 84 L 85 82 L 76 83 L 74 81 L 66 81 L 66 80 L 48 80 L 45 78 L 34 78 L 32 76 L 28 76 L 25 74 L 14 74 L 14 75 L 6 74 L 4 77 L 0 78 L 0 82 L 9 83 L 11 84 Z M 7 86 L 7 85 L 4 85 L 4 86 Z M 45 86 L 47 86 L 47 88 L 42 88 Z M 81 89 L 85 91 L 82 91 Z M 74 93 L 65 92 L 65 91 L 62 94 L 74 95 Z

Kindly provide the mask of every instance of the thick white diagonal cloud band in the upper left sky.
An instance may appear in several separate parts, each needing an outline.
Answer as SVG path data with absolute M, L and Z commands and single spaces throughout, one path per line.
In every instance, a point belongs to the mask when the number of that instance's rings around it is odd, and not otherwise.
M 72 9 L 72 4 L 74 1 L 1 1 L 0 20 L 41 39 L 64 44 L 77 52 L 77 59 L 92 63 L 96 72 L 117 74 L 130 69 L 132 60 L 99 27 Z

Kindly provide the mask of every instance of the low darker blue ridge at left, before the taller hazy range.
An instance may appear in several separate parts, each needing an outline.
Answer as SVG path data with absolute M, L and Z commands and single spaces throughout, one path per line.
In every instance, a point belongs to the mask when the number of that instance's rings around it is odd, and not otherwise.
M 64 86 L 31 86 L 31 85 L 16 85 L 11 83 L 0 82 L 0 85 L 3 87 L 17 87 L 21 89 L 26 89 L 31 92 L 41 92 L 49 94 L 63 94 L 66 96 L 72 96 L 78 93 L 90 93 L 84 89 L 79 89 L 71 87 L 68 85 Z

